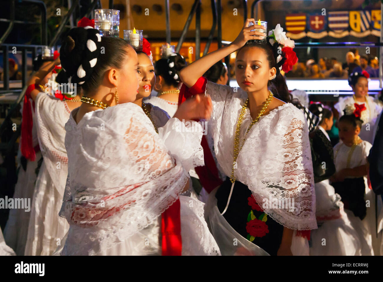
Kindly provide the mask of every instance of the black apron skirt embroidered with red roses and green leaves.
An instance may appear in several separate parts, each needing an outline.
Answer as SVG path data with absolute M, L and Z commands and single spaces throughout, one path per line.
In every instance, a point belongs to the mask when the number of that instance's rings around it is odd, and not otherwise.
M 222 213 L 228 202 L 231 181 L 226 177 L 216 193 L 218 209 Z M 264 213 L 262 203 L 257 204 L 252 192 L 243 183 L 236 181 L 224 218 L 242 237 L 247 238 L 276 256 L 282 241 L 283 226 Z

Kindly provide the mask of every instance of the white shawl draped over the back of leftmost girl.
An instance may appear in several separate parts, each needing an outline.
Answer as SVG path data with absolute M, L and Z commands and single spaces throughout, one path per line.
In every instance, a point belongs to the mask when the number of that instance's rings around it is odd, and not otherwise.
M 35 101 L 39 146 L 49 175 L 59 195 L 64 193 L 68 157 L 64 145 L 65 123 L 70 110 L 66 102 L 40 92 Z

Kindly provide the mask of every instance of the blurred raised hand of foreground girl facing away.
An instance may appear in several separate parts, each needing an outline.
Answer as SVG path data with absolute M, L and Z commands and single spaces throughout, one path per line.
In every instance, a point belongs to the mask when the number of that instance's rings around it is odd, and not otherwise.
M 179 120 L 210 119 L 213 104 L 209 95 L 197 94 L 183 102 L 173 117 Z

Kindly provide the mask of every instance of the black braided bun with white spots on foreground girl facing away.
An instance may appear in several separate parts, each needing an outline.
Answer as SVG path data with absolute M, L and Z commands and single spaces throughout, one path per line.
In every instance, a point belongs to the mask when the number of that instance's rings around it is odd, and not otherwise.
M 56 81 L 83 84 L 92 74 L 100 48 L 98 30 L 91 26 L 72 28 L 60 48 L 62 71 Z

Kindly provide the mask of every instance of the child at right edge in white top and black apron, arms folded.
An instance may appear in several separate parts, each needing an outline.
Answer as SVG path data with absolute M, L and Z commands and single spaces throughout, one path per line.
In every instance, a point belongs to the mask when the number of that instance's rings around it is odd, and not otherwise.
M 336 173 L 330 178 L 335 192 L 344 203 L 352 226 L 358 232 L 362 255 L 374 255 L 375 245 L 375 198 L 373 191 L 367 185 L 368 162 L 367 156 L 372 145 L 362 140 L 358 135 L 363 121 L 360 119 L 360 109 L 354 105 L 345 106 L 345 114 L 338 122 L 340 142 L 334 147 Z M 378 200 L 378 218 L 381 213 L 381 199 Z M 374 240 L 373 240 L 374 239 Z M 378 254 L 375 254 L 378 255 Z

